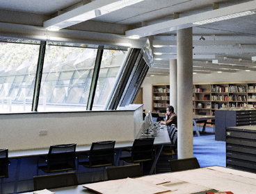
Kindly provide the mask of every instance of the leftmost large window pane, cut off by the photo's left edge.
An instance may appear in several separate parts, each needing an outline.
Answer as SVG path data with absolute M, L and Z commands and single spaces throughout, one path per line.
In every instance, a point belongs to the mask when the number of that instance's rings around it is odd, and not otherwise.
M 0 42 L 0 112 L 29 112 L 40 45 Z

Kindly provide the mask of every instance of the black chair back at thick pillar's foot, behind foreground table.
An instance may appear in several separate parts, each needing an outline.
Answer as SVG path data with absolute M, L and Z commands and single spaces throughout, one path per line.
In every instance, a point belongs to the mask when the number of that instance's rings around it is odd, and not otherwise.
M 200 168 L 198 159 L 196 157 L 186 159 L 174 159 L 170 161 L 171 172 L 177 172 L 182 170 L 192 170 Z

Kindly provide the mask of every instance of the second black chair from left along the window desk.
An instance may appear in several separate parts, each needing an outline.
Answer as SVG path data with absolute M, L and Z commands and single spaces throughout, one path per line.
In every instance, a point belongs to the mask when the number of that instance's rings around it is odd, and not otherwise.
M 38 166 L 45 173 L 76 169 L 76 143 L 51 145 L 46 159 L 47 164 Z

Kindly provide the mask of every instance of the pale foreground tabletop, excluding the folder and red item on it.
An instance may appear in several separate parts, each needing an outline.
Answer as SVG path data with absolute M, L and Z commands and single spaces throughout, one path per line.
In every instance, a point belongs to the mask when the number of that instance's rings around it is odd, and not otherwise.
M 154 178 L 164 177 L 164 179 L 169 179 L 169 183 L 161 184 L 171 190 L 171 192 L 166 192 L 166 194 L 200 193 L 212 189 L 216 191 L 232 191 L 234 194 L 255 194 L 256 191 L 256 174 L 220 166 L 151 176 Z M 146 179 L 147 177 L 141 177 L 140 179 Z M 93 193 L 83 188 L 82 185 L 50 190 L 56 194 Z M 29 192 L 26 194 L 32 193 Z

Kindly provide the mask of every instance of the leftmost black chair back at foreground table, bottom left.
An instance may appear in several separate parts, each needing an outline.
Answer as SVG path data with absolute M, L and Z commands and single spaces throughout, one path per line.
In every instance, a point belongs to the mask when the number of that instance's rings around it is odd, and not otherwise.
M 34 190 L 74 186 L 78 184 L 77 175 L 74 172 L 58 173 L 54 175 L 42 175 L 33 177 Z

